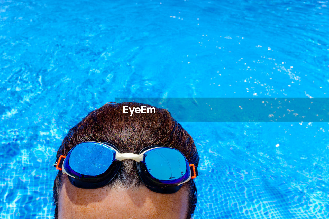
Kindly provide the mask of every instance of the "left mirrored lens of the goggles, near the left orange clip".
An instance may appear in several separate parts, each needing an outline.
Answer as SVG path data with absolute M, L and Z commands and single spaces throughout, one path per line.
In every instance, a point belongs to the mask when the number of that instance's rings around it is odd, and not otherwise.
M 75 172 L 96 176 L 110 167 L 113 158 L 113 151 L 109 147 L 85 142 L 72 149 L 68 164 Z

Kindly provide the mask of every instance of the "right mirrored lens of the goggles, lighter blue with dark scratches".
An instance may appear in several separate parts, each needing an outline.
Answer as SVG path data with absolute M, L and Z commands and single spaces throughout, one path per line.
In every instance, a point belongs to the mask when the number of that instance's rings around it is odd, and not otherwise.
M 185 156 L 171 148 L 157 148 L 146 152 L 145 165 L 154 178 L 163 181 L 179 179 L 187 171 Z

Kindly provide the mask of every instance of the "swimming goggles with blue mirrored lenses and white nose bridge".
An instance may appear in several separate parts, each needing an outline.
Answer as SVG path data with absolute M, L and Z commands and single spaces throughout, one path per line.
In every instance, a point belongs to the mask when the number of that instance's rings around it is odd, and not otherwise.
M 139 154 L 121 154 L 113 144 L 93 141 L 74 146 L 66 156 L 57 158 L 54 166 L 66 174 L 74 186 L 94 189 L 111 182 L 125 159 L 136 161 L 142 182 L 158 193 L 177 192 L 184 182 L 198 176 L 198 162 L 189 164 L 175 148 L 148 146 Z

